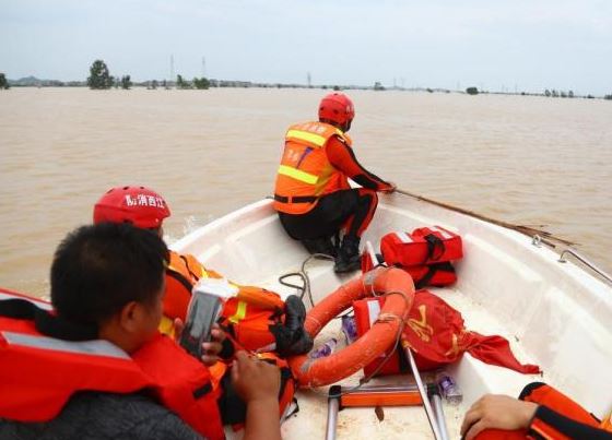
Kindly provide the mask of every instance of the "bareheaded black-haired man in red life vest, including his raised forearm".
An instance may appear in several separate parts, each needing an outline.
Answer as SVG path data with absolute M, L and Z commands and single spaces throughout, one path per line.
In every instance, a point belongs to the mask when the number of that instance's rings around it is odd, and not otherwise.
M 157 332 L 167 248 L 127 224 L 83 226 L 56 251 L 54 312 L 0 301 L 0 438 L 223 439 L 219 384 Z M 280 439 L 279 369 L 236 355 L 245 438 Z

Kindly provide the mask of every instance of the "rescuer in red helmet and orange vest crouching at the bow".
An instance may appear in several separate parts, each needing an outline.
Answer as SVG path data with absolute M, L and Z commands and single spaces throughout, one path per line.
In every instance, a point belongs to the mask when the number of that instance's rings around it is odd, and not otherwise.
M 336 257 L 339 273 L 360 267 L 360 239 L 376 211 L 376 192 L 396 189 L 357 162 L 346 134 L 354 116 L 351 99 L 334 92 L 322 98 L 318 121 L 290 127 L 274 188 L 286 233 L 310 253 Z M 348 178 L 363 188 L 351 189 Z M 331 238 L 341 229 L 337 251 Z

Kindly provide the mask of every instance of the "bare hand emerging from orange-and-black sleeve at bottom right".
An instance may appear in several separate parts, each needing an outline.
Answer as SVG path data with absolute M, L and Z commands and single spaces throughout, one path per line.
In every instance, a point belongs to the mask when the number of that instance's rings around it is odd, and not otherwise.
M 507 395 L 486 394 L 478 400 L 463 418 L 461 436 L 471 440 L 484 429 L 528 428 L 538 405 Z

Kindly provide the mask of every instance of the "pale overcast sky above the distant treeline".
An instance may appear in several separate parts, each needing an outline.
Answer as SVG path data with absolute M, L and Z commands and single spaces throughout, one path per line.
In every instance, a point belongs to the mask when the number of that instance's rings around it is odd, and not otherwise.
M 0 71 L 612 93 L 610 0 L 0 0 Z

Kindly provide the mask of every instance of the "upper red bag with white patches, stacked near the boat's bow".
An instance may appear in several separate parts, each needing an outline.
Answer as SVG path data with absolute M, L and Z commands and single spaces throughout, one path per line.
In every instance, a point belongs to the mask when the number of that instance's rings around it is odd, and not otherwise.
M 463 257 L 461 237 L 442 226 L 416 228 L 412 234 L 387 234 L 380 240 L 380 251 L 387 264 L 404 267 L 444 263 Z

